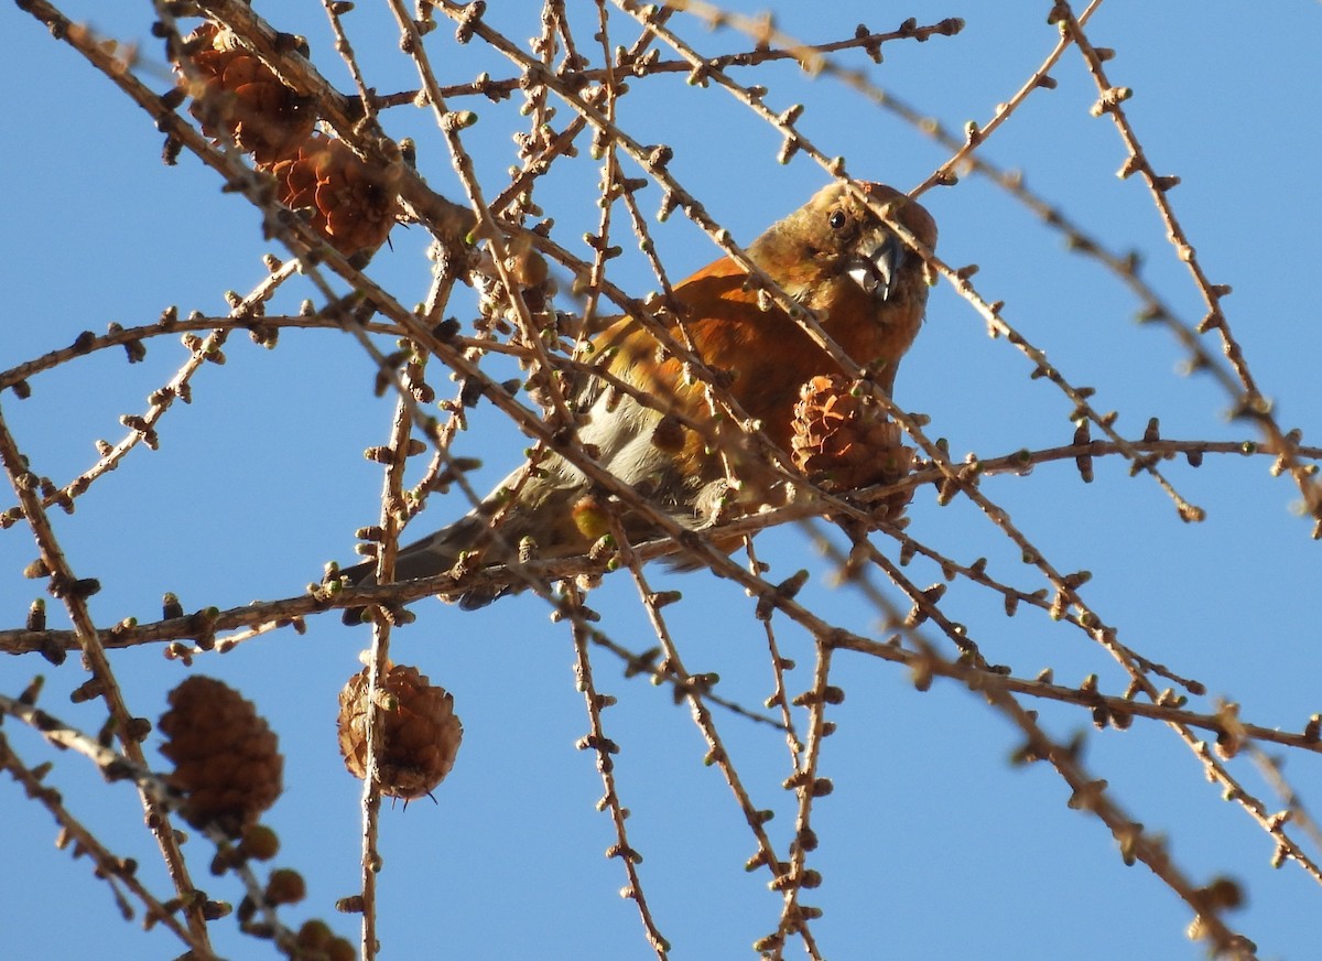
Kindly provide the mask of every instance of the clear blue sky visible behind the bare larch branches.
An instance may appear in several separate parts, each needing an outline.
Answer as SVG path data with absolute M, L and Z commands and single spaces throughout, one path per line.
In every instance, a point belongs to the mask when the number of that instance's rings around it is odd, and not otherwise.
M 382 93 L 415 86 L 383 5 L 358 7 L 346 25 L 369 82 Z M 492 21 L 512 37 L 537 33 L 535 4 L 493 7 L 502 9 L 490 13 Z M 583 7 L 572 16 L 587 45 L 595 12 Z M 740 5 L 748 12 L 767 7 Z M 964 17 L 957 37 L 886 45 L 880 65 L 858 52 L 839 56 L 842 65 L 863 70 L 871 83 L 953 131 L 970 119 L 985 124 L 1056 40 L 1046 3 L 769 8 L 783 30 L 805 42 L 847 38 L 861 20 L 882 30 L 907 17 L 920 24 Z M 140 74 L 167 89 L 147 4 L 62 9 L 91 17 L 108 36 L 140 42 Z M 276 26 L 307 34 L 321 71 L 341 90 L 352 89 L 320 4 L 259 11 Z M 612 16 L 612 40 L 631 42 L 636 30 L 623 20 Z M 732 30 L 709 32 L 683 15 L 674 24 L 711 56 L 750 46 Z M 1322 7 L 1293 0 L 1273 5 L 1268 17 L 1211 0 L 1112 3 L 1088 32 L 1093 44 L 1117 52 L 1107 69 L 1113 83 L 1134 91 L 1125 110 L 1149 159 L 1158 172 L 1181 177 L 1173 204 L 1212 282 L 1233 287 L 1225 313 L 1263 393 L 1284 427 L 1300 427 L 1305 443 L 1317 443 Z M 443 83 L 480 70 L 508 75 L 480 41 L 449 42 L 446 24 L 434 41 Z M 7 104 L 0 171 L 8 185 L 0 217 L 0 370 L 65 346 L 85 329 L 152 323 L 171 304 L 185 315 L 223 315 L 225 291 L 246 292 L 264 276 L 260 255 L 271 247 L 260 238 L 259 215 L 242 198 L 222 194 L 197 160 L 161 165 L 161 135 L 151 120 L 13 5 L 0 13 L 0 62 Z M 1108 119 L 1089 116 L 1096 90 L 1077 52 L 1067 50 L 1052 75 L 1058 87 L 1030 96 L 982 155 L 1023 171 L 1030 188 L 1108 249 L 1138 251 L 1145 279 L 1178 316 L 1196 323 L 1196 291 L 1145 188 L 1137 177 L 1114 176 L 1125 151 Z M 800 128 L 826 153 L 845 156 L 858 176 L 908 189 L 948 156 L 833 79 L 810 81 L 791 65 L 738 77 L 767 86 L 777 110 L 804 103 Z M 672 172 L 740 243 L 828 182 L 805 157 L 777 165 L 775 132 L 715 85 L 694 89 L 674 77 L 632 86 L 620 104 L 621 126 L 644 143 L 670 144 Z M 480 114 L 464 141 L 493 196 L 514 163 L 518 100 L 455 106 Z M 419 169 L 435 189 L 461 196 L 423 111 L 394 110 L 385 123 L 393 136 L 418 140 Z M 557 218 L 562 242 L 571 243 L 595 227 L 596 211 L 584 201 L 596 189 L 598 169 L 587 151 L 558 167 L 538 201 Z M 640 201 L 654 210 L 660 190 L 649 186 Z M 1210 377 L 1183 373 L 1186 357 L 1169 333 L 1134 323 L 1137 303 L 1113 276 L 1067 252 L 1059 233 L 999 188 L 968 176 L 923 202 L 940 225 L 944 259 L 977 263 L 984 296 L 1006 301 L 1006 319 L 1072 383 L 1096 387 L 1095 407 L 1120 411 L 1125 436 L 1141 436 L 1150 416 L 1161 418 L 1167 438 L 1252 436 L 1247 424 L 1227 418 L 1231 398 Z M 715 255 L 680 215 L 656 231 L 673 279 Z M 391 239 L 393 249 L 368 272 L 402 303 L 415 303 L 430 279 L 426 238 L 414 227 L 397 229 Z M 612 270 L 633 293 L 654 287 L 633 254 Z M 305 296 L 311 286 L 291 284 L 271 312 L 292 311 Z M 452 312 L 469 321 L 471 300 L 456 300 Z M 147 361 L 134 366 L 118 350 L 102 352 L 34 377 L 28 401 L 5 391 L 0 410 L 32 469 L 63 484 L 95 461 L 95 439 L 119 440 L 119 416 L 144 410 L 147 395 L 185 356 L 173 337 L 152 340 Z M 377 518 L 379 468 L 361 452 L 385 443 L 393 402 L 371 397 L 373 365 L 357 344 L 332 332 L 292 330 L 275 350 L 235 336 L 226 356 L 223 367 L 208 366 L 196 377 L 193 403 L 167 415 L 159 451 L 134 451 L 79 498 L 75 514 L 56 517 L 74 570 L 102 582 L 91 600 L 99 624 L 157 619 L 164 591 L 178 594 L 185 609 L 296 595 L 327 560 L 349 558 L 353 530 Z M 947 438 L 957 456 L 1068 443 L 1071 403 L 1030 373 L 1031 364 L 1005 340 L 989 338 L 982 320 L 943 284 L 902 366 L 896 401 L 929 415 L 929 435 Z M 440 377 L 436 383 L 446 395 L 449 385 Z M 456 449 L 484 460 L 480 485 L 514 467 L 525 445 L 484 406 Z M 1297 731 L 1322 710 L 1322 545 L 1309 538 L 1311 522 L 1292 510 L 1298 490 L 1286 477 L 1273 479 L 1269 465 L 1269 457 L 1225 455 L 1208 456 L 1199 469 L 1183 460 L 1165 464 L 1179 490 L 1207 510 L 1199 525 L 1182 522 L 1158 486 L 1130 479 L 1118 459 L 1099 460 L 1091 485 L 1062 461 L 1025 477 L 988 479 L 984 490 L 1059 570 L 1093 572 L 1084 595 L 1124 642 L 1207 685 L 1210 695 L 1195 710 L 1215 710 L 1214 698 L 1227 697 L 1241 705 L 1245 719 Z M 435 497 L 416 530 L 463 510 L 457 496 Z M 940 508 L 928 488 L 908 513 L 910 533 L 948 557 L 962 563 L 986 557 L 994 576 L 1030 591 L 1043 586 L 966 500 Z M 884 538 L 878 543 L 896 554 Z M 797 529 L 769 531 L 758 549 L 773 564 L 771 576 L 802 566 L 824 571 Z M 22 525 L 0 531 L 0 628 L 20 627 L 28 604 L 41 596 L 38 582 L 21 578 L 33 557 Z M 941 580 L 920 560 L 908 574 L 923 586 Z M 771 677 L 752 601 L 711 578 L 660 568 L 649 576 L 654 587 L 683 591 L 683 603 L 666 608 L 666 616 L 687 669 L 718 672 L 720 693 L 758 707 L 771 693 Z M 644 649 L 653 638 L 636 597 L 633 584 L 616 575 L 591 603 L 612 637 Z M 824 575 L 802 599 L 838 624 L 884 637 L 876 612 L 851 591 L 832 590 Z M 951 584 L 943 608 L 968 625 L 989 660 L 1018 675 L 1052 666 L 1064 683 L 1097 673 L 1104 690 L 1124 689 L 1109 658 L 1040 612 L 1007 619 L 999 596 L 966 582 Z M 473 613 L 432 600 L 415 611 L 418 621 L 395 634 L 393 654 L 455 694 L 465 740 L 435 805 L 383 814 L 386 954 L 649 957 L 633 905 L 617 895 L 624 872 L 603 857 L 613 827 L 594 809 L 602 794 L 594 757 L 574 748 L 587 719 L 564 627 L 549 623 L 545 604 L 527 596 Z M 52 625 L 66 627 L 62 617 L 52 604 Z M 808 638 L 781 621 L 777 637 L 800 664 L 792 691 L 805 689 Z M 311 621 L 304 636 L 278 632 L 194 666 L 239 687 L 280 736 L 287 790 L 268 821 L 283 842 L 278 863 L 300 868 L 309 886 L 308 902 L 286 917 L 296 924 L 321 916 L 354 940 L 356 919 L 334 916 L 332 904 L 357 890 L 360 784 L 344 771 L 333 726 L 336 693 L 358 669 L 368 640 L 365 628 L 327 616 Z M 779 898 L 767 891 L 764 872 L 742 868 L 754 845 L 728 789 L 703 767 L 705 746 L 687 710 L 674 706 L 669 691 L 627 679 L 619 664 L 598 658 L 598 685 L 619 698 L 605 723 L 623 748 L 616 771 L 632 810 L 631 842 L 645 858 L 644 890 L 673 956 L 750 956 L 751 942 L 773 929 Z M 131 710 L 153 719 L 185 675 L 151 646 L 116 653 L 114 664 Z M 0 690 L 17 694 L 37 673 L 48 678 L 46 710 L 89 731 L 99 727 L 98 705 L 67 702 L 67 691 L 85 679 L 77 658 L 58 669 L 36 657 L 5 658 Z M 1100 822 L 1066 806 L 1069 792 L 1055 773 L 1009 764 L 1019 735 L 978 697 L 940 681 L 920 694 L 903 669 L 849 653 L 837 656 L 834 682 L 847 695 L 829 715 L 838 732 L 822 759 L 836 792 L 814 809 L 822 843 L 809 861 L 824 884 L 805 895 L 825 911 L 814 932 L 826 956 L 1202 956 L 1202 946 L 1185 937 L 1187 907 L 1141 865 L 1122 865 Z M 1026 706 L 1039 710 L 1058 738 L 1091 730 L 1079 709 Z M 771 827 L 784 847 L 793 797 L 780 788 L 789 773 L 783 738 L 724 714 L 718 724 L 755 804 L 776 809 Z M 132 790 L 103 785 L 82 759 L 52 753 L 13 720 L 4 730 L 29 764 L 54 759 L 50 781 L 78 817 L 114 850 L 137 857 L 144 878 L 165 896 Z M 153 735 L 148 747 L 157 744 Z M 1269 867 L 1272 839 L 1206 783 L 1173 731 L 1136 720 L 1125 732 L 1095 732 L 1084 760 L 1130 817 L 1166 835 L 1171 855 L 1195 880 L 1229 875 L 1244 884 L 1248 904 L 1228 920 L 1260 945 L 1261 957 L 1318 957 L 1318 884 L 1297 865 Z M 1248 759 L 1232 771 L 1270 810 L 1282 806 Z M 1322 796 L 1315 756 L 1293 752 L 1285 772 L 1305 802 Z M 11 868 L 0 904 L 7 954 L 172 957 L 180 950 L 167 932 L 144 935 L 120 921 L 90 865 L 54 850 L 48 813 L 8 781 L 0 784 L 0 851 Z M 196 845 L 186 850 L 197 883 L 213 898 L 237 900 L 231 879 L 206 875 L 205 842 Z M 263 956 L 266 945 L 239 936 L 231 923 L 214 927 L 221 953 Z

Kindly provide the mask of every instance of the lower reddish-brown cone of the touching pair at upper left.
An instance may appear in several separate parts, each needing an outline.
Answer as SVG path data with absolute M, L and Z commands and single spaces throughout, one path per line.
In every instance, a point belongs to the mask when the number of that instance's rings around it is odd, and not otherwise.
M 375 250 L 395 226 L 395 185 L 334 137 L 313 134 L 267 169 L 280 202 L 308 210 L 312 229 L 345 256 Z

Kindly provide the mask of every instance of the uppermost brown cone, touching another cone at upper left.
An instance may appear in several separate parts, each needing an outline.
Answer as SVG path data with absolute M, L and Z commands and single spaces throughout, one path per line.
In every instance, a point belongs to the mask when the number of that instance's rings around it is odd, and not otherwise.
M 214 141 L 233 139 L 258 164 L 271 164 L 312 135 L 312 102 L 284 86 L 227 30 L 202 24 L 184 40 L 184 52 L 202 81 L 201 90 L 190 91 L 189 112 Z

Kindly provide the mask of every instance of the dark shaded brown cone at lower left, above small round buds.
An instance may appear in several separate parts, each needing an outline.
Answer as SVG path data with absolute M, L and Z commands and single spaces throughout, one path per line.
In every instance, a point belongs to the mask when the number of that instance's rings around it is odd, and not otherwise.
M 231 835 L 256 822 L 283 790 L 278 740 L 251 702 L 214 678 L 193 674 L 169 694 L 161 753 L 175 761 L 168 780 L 185 796 L 184 818 Z

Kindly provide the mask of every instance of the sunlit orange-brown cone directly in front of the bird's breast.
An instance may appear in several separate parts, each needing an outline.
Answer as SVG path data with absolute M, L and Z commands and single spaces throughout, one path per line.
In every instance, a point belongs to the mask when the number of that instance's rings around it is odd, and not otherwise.
M 818 375 L 798 391 L 791 448 L 795 467 L 824 490 L 857 490 L 894 484 L 914 468 L 914 448 L 902 444 L 898 424 L 876 410 L 871 395 L 854 393 L 839 375 Z M 912 498 L 903 492 L 887 501 L 899 516 Z

